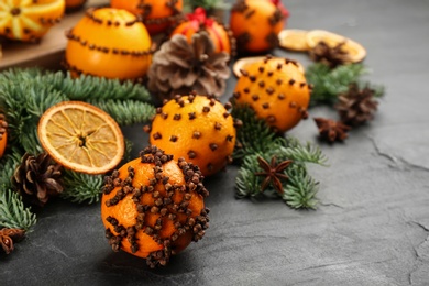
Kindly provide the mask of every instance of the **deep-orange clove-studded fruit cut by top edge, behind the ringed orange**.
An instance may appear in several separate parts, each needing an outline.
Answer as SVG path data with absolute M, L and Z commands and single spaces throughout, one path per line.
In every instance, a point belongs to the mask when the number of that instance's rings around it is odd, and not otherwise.
M 110 6 L 143 18 L 151 35 L 165 32 L 182 15 L 183 0 L 111 0 Z

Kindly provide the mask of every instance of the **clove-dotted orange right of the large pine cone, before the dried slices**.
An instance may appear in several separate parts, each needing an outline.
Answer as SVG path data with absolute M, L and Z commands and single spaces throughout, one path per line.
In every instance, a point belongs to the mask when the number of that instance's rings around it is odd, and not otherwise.
M 308 117 L 311 87 L 296 61 L 266 57 L 249 64 L 234 89 L 237 105 L 249 105 L 279 132 Z

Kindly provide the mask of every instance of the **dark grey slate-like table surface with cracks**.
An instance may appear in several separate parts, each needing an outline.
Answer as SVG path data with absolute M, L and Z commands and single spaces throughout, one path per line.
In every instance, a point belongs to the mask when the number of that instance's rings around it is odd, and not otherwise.
M 0 254 L 0 285 L 429 285 L 429 1 L 289 0 L 288 28 L 323 29 L 367 50 L 367 79 L 385 85 L 374 121 L 343 144 L 321 144 L 330 167 L 319 208 L 234 197 L 238 168 L 208 178 L 206 237 L 150 270 L 113 253 L 100 206 L 56 200 L 13 254 Z M 275 51 L 311 64 L 304 54 Z M 231 78 L 222 100 L 232 94 Z M 334 117 L 326 107 L 311 117 Z M 141 125 L 124 129 L 146 145 Z M 290 132 L 317 141 L 312 120 Z

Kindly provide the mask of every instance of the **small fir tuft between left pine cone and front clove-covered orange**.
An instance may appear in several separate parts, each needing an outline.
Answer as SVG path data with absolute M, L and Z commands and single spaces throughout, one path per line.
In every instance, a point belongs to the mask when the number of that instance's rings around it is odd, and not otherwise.
M 63 180 L 65 188 L 61 194 L 62 198 L 79 204 L 84 201 L 94 204 L 100 200 L 102 175 L 88 175 L 65 169 Z

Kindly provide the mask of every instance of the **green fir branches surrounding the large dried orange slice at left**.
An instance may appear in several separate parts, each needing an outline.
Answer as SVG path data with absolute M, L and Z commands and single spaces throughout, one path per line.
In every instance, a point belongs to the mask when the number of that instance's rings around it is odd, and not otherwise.
M 144 86 L 92 76 L 73 79 L 69 74 L 38 68 L 12 68 L 0 73 L 0 110 L 9 123 L 9 142 L 0 160 L 0 226 L 29 229 L 35 223 L 30 209 L 23 207 L 11 177 L 22 155 L 40 154 L 37 123 L 50 107 L 65 100 L 82 100 L 107 111 L 119 124 L 148 121 L 155 113 L 151 95 Z M 11 147 L 13 146 L 13 147 Z M 131 144 L 127 144 L 128 152 Z M 76 202 L 96 202 L 102 176 L 65 172 L 62 197 Z

